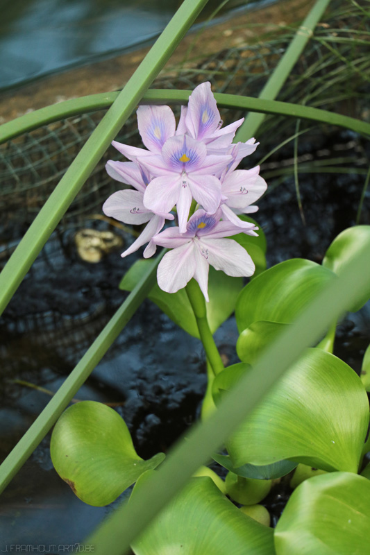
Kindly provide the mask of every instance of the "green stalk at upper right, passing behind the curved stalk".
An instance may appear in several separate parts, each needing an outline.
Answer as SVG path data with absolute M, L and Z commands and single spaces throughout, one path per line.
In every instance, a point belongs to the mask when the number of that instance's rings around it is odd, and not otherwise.
M 264 85 L 262 91 L 260 92 L 259 99 L 276 99 L 276 96 L 278 96 L 285 81 L 291 74 L 299 56 L 301 56 L 305 45 L 312 37 L 314 28 L 320 21 L 329 1 L 330 0 L 317 0 L 314 4 L 314 7 L 310 10 L 310 13 L 305 18 L 303 24 L 299 26 L 298 31 L 296 32 L 292 42 L 289 44 L 287 51 L 285 51 L 283 58 L 281 58 L 280 62 L 274 69 L 274 73 L 271 75 L 266 85 Z M 242 126 L 237 130 L 235 142 L 246 141 L 250 137 L 253 137 L 264 118 L 264 114 L 248 114 Z

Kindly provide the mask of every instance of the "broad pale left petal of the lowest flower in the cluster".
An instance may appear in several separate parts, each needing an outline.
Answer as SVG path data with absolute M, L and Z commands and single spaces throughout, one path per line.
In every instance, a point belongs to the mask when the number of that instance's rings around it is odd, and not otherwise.
M 190 241 L 162 258 L 157 271 L 158 285 L 167 293 L 176 293 L 192 279 L 195 269 L 194 244 Z

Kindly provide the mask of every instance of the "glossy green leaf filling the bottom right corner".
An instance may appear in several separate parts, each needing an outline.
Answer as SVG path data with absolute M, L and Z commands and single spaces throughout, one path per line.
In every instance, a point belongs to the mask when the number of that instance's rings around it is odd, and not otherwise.
M 305 480 L 275 529 L 277 555 L 369 553 L 370 481 L 349 472 Z

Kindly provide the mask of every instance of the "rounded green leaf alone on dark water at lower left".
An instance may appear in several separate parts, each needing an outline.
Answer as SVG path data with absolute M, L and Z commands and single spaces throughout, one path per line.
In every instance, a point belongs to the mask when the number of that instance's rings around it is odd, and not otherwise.
M 163 453 L 149 461 L 141 459 L 124 420 L 95 401 L 76 403 L 62 413 L 53 429 L 50 452 L 58 475 L 77 497 L 94 506 L 108 505 L 165 459 Z

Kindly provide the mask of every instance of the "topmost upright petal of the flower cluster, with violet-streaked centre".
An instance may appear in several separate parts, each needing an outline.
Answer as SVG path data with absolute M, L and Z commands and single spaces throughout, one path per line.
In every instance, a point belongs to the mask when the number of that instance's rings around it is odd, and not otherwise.
M 190 95 L 185 123 L 190 135 L 199 141 L 219 128 L 219 110 L 209 82 L 198 85 Z

